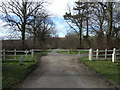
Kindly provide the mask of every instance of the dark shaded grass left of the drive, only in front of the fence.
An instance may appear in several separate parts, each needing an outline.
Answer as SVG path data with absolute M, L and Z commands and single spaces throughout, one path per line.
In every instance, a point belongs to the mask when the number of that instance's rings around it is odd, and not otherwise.
M 11 88 L 21 82 L 28 74 L 29 68 L 36 65 L 37 62 L 24 62 L 20 65 L 19 62 L 3 63 L 2 65 L 2 87 Z

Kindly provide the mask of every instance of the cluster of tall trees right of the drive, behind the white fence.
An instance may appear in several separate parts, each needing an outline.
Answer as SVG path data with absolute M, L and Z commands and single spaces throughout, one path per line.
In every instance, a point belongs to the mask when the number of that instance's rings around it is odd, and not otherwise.
M 104 48 L 115 47 L 112 45 L 114 41 L 118 42 L 118 38 L 115 39 L 113 33 L 119 33 L 117 23 L 120 5 L 114 2 L 75 2 L 73 11 L 69 10 L 63 16 L 69 26 L 79 35 L 80 47 L 92 47 L 91 38 L 97 40 L 96 45 L 104 44 Z M 86 33 L 85 33 L 86 32 Z M 91 33 L 91 34 L 90 34 Z M 118 36 L 118 35 L 117 35 Z M 120 37 L 119 37 L 120 39 Z M 117 47 L 117 45 L 116 45 Z M 101 46 L 103 48 L 103 46 Z

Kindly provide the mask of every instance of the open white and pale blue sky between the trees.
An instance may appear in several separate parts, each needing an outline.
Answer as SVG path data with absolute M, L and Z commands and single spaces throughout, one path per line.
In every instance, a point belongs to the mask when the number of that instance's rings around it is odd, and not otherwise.
M 3 0 L 0 0 L 3 1 Z M 35 0 L 34 0 L 35 1 Z M 75 0 L 45 0 L 50 4 L 47 5 L 48 12 L 52 15 L 52 20 L 56 24 L 56 31 L 59 37 L 64 37 L 68 30 L 68 25 L 63 19 L 63 15 L 67 11 L 67 4 L 73 6 Z M 9 34 L 9 29 L 3 27 L 6 23 L 0 20 L 0 38 L 5 37 Z

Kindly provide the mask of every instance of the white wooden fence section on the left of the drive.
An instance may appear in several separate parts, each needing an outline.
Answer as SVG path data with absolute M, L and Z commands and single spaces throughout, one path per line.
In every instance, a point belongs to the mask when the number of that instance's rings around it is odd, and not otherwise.
M 31 49 L 31 50 L 0 50 L 0 60 L 2 61 L 19 61 L 20 64 L 23 61 L 33 61 L 34 60 L 34 52 L 42 51 L 41 49 Z M 9 57 L 12 57 L 9 58 Z M 29 57 L 29 58 L 28 58 Z

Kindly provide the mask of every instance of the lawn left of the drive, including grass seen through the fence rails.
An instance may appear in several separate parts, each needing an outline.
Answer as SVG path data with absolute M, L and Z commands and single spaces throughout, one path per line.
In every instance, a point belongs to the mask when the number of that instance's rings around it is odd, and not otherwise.
M 48 53 L 48 51 L 35 53 L 33 60 L 24 61 L 23 65 L 20 65 L 19 62 L 17 61 L 3 62 L 2 63 L 2 87 L 4 89 L 11 88 L 12 86 L 23 81 L 25 77 L 28 75 L 28 73 L 30 72 L 31 68 L 37 66 L 38 57 L 46 53 Z M 13 58 L 13 57 L 9 57 L 9 58 Z M 26 57 L 23 57 L 23 58 L 26 58 Z M 28 56 L 27 58 L 30 58 L 30 56 Z

